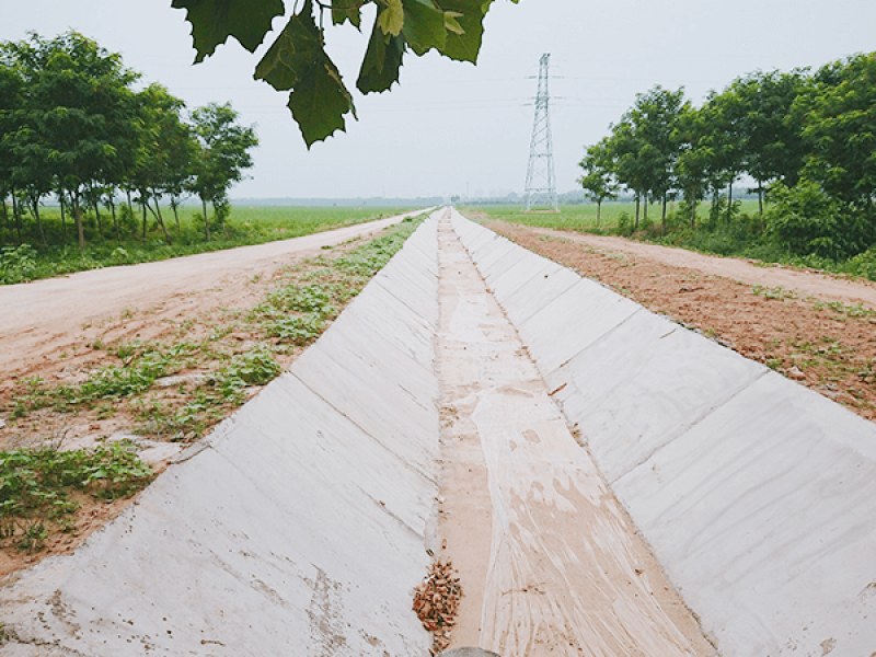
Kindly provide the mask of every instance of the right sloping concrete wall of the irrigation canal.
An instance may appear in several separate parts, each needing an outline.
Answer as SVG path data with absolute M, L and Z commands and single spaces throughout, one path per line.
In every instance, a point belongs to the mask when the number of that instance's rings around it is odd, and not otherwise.
M 719 654 L 875 654 L 876 426 L 458 214 L 453 226 Z

